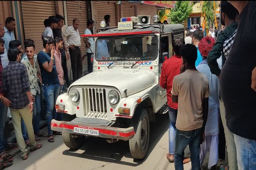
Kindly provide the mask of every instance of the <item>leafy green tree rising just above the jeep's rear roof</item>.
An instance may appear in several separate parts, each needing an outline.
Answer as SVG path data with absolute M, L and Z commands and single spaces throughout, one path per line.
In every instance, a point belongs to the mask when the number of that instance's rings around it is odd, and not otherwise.
M 175 1 L 175 9 L 167 16 L 173 24 L 184 24 L 192 12 L 192 4 L 189 1 Z

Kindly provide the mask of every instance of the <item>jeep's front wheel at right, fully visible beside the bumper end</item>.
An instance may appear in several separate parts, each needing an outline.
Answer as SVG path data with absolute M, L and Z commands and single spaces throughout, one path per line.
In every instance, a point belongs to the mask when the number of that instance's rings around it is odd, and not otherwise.
M 134 159 L 143 159 L 148 151 L 149 142 L 149 118 L 145 109 L 135 112 L 132 126 L 135 135 L 129 140 L 130 152 Z

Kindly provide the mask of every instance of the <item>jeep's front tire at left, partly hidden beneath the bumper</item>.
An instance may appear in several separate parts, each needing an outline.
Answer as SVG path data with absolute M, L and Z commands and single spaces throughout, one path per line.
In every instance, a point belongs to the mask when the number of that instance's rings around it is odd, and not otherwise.
M 77 149 L 82 144 L 81 137 L 73 137 L 72 133 L 62 132 L 62 138 L 65 145 L 71 149 Z

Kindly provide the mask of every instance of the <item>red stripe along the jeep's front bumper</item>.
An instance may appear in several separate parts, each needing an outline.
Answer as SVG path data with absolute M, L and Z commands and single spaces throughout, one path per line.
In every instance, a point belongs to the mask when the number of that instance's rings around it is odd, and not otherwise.
M 100 129 L 100 128 L 91 128 L 91 127 L 85 127 L 85 126 L 79 126 L 79 125 L 59 124 L 59 126 L 58 126 L 58 124 L 52 123 L 51 126 L 52 127 L 58 127 L 58 128 L 66 128 L 66 129 L 74 129 L 74 127 L 93 129 L 93 130 L 99 130 L 99 133 L 110 134 L 110 135 L 113 135 L 113 136 L 118 136 L 119 135 L 119 136 L 122 136 L 122 137 L 129 137 L 129 136 L 135 134 L 134 130 L 130 131 L 130 132 L 127 132 L 127 133 L 124 133 L 124 132 L 116 132 L 116 131 L 113 131 L 113 130 Z

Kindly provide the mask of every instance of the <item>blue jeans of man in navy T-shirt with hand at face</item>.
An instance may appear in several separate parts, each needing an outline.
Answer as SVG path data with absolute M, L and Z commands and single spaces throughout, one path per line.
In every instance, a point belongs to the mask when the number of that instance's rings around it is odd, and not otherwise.
M 56 109 L 55 104 L 57 97 L 60 94 L 60 84 L 44 85 L 43 93 L 46 100 L 46 117 L 47 117 L 47 128 L 48 134 L 52 133 L 51 121 L 56 119 Z

